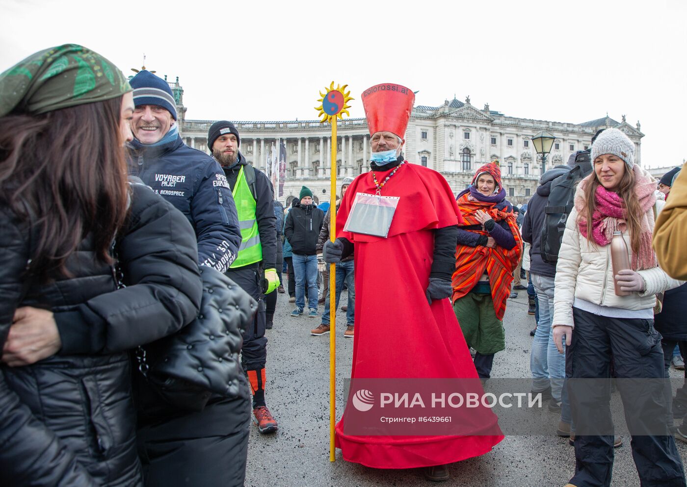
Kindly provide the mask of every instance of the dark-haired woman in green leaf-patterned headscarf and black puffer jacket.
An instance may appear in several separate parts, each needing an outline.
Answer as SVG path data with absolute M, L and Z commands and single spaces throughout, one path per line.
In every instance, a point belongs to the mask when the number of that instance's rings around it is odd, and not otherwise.
M 202 288 L 188 220 L 127 183 L 133 109 L 79 45 L 0 74 L 0 485 L 142 486 L 127 350 Z

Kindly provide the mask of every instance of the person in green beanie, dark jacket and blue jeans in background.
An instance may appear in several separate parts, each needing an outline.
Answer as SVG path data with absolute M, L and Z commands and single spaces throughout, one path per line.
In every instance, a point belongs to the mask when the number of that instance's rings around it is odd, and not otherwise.
M 313 204 L 313 192 L 303 186 L 300 204 L 286 216 L 284 235 L 293 251 L 293 271 L 296 281 L 296 308 L 291 316 L 300 316 L 305 307 L 305 282 L 308 282 L 308 317 L 317 318 L 317 237 L 322 229 L 324 213 Z

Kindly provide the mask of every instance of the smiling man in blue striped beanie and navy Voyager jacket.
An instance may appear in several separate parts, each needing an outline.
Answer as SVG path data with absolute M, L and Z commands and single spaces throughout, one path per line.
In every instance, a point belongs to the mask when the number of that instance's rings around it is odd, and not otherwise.
M 236 205 L 219 164 L 183 143 L 168 82 L 145 69 L 131 78 L 136 110 L 131 122 L 129 174 L 142 179 L 190 221 L 198 262 L 220 272 L 238 253 Z

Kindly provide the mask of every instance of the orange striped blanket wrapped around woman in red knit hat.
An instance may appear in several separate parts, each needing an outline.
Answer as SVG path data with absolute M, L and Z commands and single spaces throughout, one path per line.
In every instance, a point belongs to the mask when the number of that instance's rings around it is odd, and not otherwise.
M 469 293 L 475 284 L 480 280 L 485 270 L 491 283 L 491 297 L 494 302 L 494 311 L 498 319 L 503 319 L 506 313 L 506 301 L 510 295 L 510 283 L 513 281 L 513 269 L 522 255 L 522 240 L 520 231 L 515 223 L 513 212 L 504 212 L 495 208 L 495 203 L 485 203 L 482 201 L 469 200 L 469 193 L 463 194 L 458 199 L 458 207 L 465 220 L 464 226 L 482 225 L 475 212 L 481 209 L 487 212 L 495 222 L 506 220 L 510 231 L 515 238 L 515 247 L 506 250 L 498 245 L 494 249 L 478 245 L 458 245 L 455 248 L 455 272 L 451 284 L 453 285 L 453 296 L 451 302 Z M 484 229 L 469 229 L 476 234 L 488 236 Z

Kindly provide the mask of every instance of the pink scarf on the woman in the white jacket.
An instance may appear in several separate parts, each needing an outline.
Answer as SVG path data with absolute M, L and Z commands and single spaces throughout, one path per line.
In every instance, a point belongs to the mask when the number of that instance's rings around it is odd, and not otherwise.
M 633 167 L 633 172 L 635 173 L 635 196 L 639 199 L 642 209 L 640 251 L 633 253 L 632 256 L 632 268 L 638 271 L 639 269 L 653 269 L 658 265 L 656 254 L 651 248 L 654 224 L 652 207 L 656 203 L 654 193 L 656 181 L 648 172 L 644 172 L 638 166 Z M 596 174 L 592 172 L 580 182 L 580 187 L 575 195 L 575 207 L 580 213 L 584 211 L 585 207 L 584 188 L 594 177 Z M 627 210 L 620 195 L 607 190 L 602 185 L 598 185 L 596 188 L 594 198 L 596 199 L 596 210 L 592 215 L 592 238 L 598 245 L 609 245 L 611 238 L 613 238 L 613 231 L 624 232 L 627 230 Z M 650 217 L 651 223 L 649 222 Z M 587 220 L 585 218 L 580 218 L 579 228 L 580 233 L 588 238 Z

